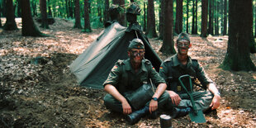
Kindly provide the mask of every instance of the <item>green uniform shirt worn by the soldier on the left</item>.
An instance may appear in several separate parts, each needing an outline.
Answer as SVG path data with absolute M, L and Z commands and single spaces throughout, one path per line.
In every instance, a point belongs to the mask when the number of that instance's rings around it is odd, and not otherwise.
M 155 71 L 147 59 L 142 60 L 141 68 L 137 73 L 131 68 L 130 59 L 118 60 L 103 86 L 111 84 L 123 94 L 124 92 L 135 91 L 142 84 L 150 83 L 149 78 L 151 78 L 154 85 L 165 83 L 164 78 L 159 76 L 159 73 Z

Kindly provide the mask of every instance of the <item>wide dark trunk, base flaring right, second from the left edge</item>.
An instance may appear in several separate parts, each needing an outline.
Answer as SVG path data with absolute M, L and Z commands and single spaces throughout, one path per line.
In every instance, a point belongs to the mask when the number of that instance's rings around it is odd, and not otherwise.
M 22 36 L 46 36 L 36 27 L 32 15 L 30 0 L 21 0 Z

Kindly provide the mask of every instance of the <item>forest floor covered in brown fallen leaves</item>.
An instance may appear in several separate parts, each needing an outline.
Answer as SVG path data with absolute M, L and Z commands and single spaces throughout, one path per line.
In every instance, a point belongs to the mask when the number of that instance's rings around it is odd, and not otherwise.
M 159 118 L 148 117 L 127 125 L 124 116 L 103 105 L 106 92 L 80 87 L 70 73 L 69 65 L 103 29 L 82 33 L 73 29 L 73 22 L 55 19 L 50 29 L 39 28 L 49 37 L 24 37 L 21 19 L 16 20 L 19 30 L 0 29 L 0 127 L 159 127 Z M 228 36 L 191 40 L 189 55 L 199 60 L 222 98 L 217 111 L 206 115 L 206 123 L 185 116 L 173 119 L 173 127 L 256 127 L 256 72 L 218 68 Z M 159 52 L 162 40 L 150 43 L 161 59 L 171 56 Z M 251 59 L 256 64 L 255 54 Z

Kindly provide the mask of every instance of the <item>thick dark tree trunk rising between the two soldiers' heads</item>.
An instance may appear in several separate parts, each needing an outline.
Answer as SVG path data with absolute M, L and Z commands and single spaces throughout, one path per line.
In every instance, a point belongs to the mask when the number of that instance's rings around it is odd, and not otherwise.
M 160 51 L 164 54 L 176 54 L 173 42 L 173 0 L 164 0 L 164 39 Z

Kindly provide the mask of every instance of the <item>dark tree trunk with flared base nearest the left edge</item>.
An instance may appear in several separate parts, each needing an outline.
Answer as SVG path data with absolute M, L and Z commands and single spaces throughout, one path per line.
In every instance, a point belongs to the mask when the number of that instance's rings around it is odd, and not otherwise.
M 14 9 L 12 0 L 6 1 L 7 8 L 7 21 L 5 22 L 3 29 L 6 31 L 14 31 L 17 30 L 17 25 L 15 22 Z

